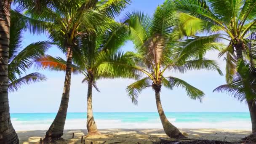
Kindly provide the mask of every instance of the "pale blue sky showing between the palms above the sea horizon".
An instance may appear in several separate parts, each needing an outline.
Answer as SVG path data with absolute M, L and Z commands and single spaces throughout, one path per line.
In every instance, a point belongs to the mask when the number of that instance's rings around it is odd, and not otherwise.
M 133 3 L 116 18 L 121 19 L 128 11 L 143 11 L 150 16 L 157 5 L 164 0 L 132 0 Z M 23 45 L 47 40 L 47 35 L 33 35 L 24 33 Z M 127 42 L 123 51 L 132 51 L 133 44 Z M 48 54 L 52 56 L 65 57 L 61 51 L 53 46 Z M 225 70 L 225 61 L 218 59 L 218 52 L 207 53 L 208 59 L 218 61 L 222 71 Z M 48 80 L 42 83 L 23 86 L 19 91 L 9 93 L 10 112 L 57 112 L 61 101 L 64 85 L 64 72 L 50 72 L 30 69 L 29 72 L 41 72 Z M 27 72 L 27 73 L 29 73 Z M 163 88 L 161 100 L 166 112 L 248 112 L 245 103 L 236 101 L 226 93 L 213 93 L 213 89 L 225 83 L 225 77 L 213 71 L 191 71 L 185 74 L 167 72 L 166 76 L 175 76 L 186 80 L 191 85 L 201 89 L 205 93 L 203 102 L 189 99 L 182 88 L 172 91 Z M 82 84 L 82 75 L 72 75 L 71 91 L 68 112 L 86 112 L 87 85 Z M 97 82 L 100 93 L 93 91 L 94 112 L 157 112 L 155 104 L 155 93 L 152 88 L 144 90 L 139 96 L 139 105 L 135 106 L 128 98 L 125 88 L 134 80 L 114 79 L 99 80 Z

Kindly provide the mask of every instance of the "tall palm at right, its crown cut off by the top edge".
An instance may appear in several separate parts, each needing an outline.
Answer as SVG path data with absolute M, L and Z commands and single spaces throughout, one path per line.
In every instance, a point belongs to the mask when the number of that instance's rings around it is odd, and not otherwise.
M 180 12 L 180 28 L 185 35 L 195 35 L 197 32 L 219 33 L 219 38 L 229 41 L 220 56 L 226 54 L 226 81 L 232 83 L 236 63 L 246 55 L 249 49 L 248 36 L 255 31 L 256 1 L 175 0 L 175 3 Z M 247 102 L 249 109 L 256 109 L 255 101 L 248 99 Z M 250 114 L 256 117 L 256 112 Z

